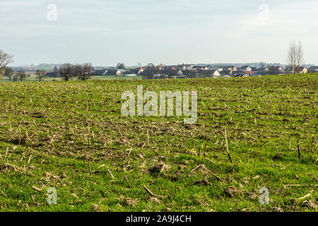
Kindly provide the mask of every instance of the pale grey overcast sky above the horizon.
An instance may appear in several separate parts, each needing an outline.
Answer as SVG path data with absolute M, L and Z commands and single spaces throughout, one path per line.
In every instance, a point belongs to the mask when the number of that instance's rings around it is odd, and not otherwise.
M 300 40 L 306 64 L 318 64 L 317 8 L 317 0 L 0 0 L 0 49 L 13 65 L 285 64 L 289 42 Z

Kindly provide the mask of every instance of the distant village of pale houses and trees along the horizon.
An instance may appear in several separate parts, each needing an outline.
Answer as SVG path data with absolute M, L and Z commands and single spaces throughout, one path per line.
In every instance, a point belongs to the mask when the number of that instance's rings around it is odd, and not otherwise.
M 59 76 L 59 65 L 52 64 L 40 65 L 47 69 L 47 77 Z M 19 70 L 21 68 L 15 68 Z M 32 74 L 35 71 L 34 66 L 23 67 L 23 71 Z M 94 67 L 90 76 L 143 76 L 143 78 L 218 78 L 218 77 L 247 77 L 247 76 L 269 76 L 288 73 L 315 73 L 318 72 L 318 66 L 300 66 L 291 69 L 290 66 L 275 66 L 261 63 L 259 66 L 235 66 L 235 65 L 213 65 L 213 64 L 179 64 L 167 66 L 159 64 L 148 64 L 139 67 L 127 67 L 119 63 L 113 67 Z

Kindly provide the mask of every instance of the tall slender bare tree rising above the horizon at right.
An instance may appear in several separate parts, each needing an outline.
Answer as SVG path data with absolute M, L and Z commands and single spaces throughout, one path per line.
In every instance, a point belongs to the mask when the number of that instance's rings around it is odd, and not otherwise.
M 291 73 L 299 73 L 300 66 L 305 63 L 302 44 L 300 41 L 290 42 L 287 54 L 287 62 Z

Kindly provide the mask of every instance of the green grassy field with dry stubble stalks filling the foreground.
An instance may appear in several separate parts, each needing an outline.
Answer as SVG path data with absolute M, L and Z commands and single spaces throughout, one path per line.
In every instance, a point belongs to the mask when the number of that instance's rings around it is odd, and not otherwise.
M 317 84 L 318 74 L 0 83 L 0 210 L 315 211 Z M 121 95 L 137 85 L 198 91 L 196 124 L 123 117 Z

